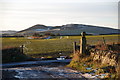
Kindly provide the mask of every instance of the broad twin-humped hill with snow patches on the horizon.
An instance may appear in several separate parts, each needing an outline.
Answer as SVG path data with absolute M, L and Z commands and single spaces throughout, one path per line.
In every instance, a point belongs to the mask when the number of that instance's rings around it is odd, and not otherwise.
M 87 34 L 99 35 L 99 34 L 118 34 L 120 30 L 85 24 L 66 24 L 62 26 L 45 26 L 37 24 L 25 30 L 19 31 L 17 34 L 31 35 L 33 33 L 51 32 L 53 34 L 60 35 L 80 35 L 80 33 L 83 31 L 85 31 Z

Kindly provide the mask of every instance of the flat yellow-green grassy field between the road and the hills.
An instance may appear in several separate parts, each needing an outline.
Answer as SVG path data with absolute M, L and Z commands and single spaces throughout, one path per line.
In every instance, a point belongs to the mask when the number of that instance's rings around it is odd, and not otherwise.
M 120 35 L 97 35 L 86 36 L 87 44 L 98 44 L 103 42 L 103 37 L 106 43 L 118 42 Z M 62 39 L 26 39 L 26 38 L 2 38 L 2 48 L 18 47 L 24 44 L 24 53 L 33 57 L 57 57 L 62 55 L 70 55 L 73 50 L 72 42 L 76 41 L 79 44 L 81 36 L 62 36 Z

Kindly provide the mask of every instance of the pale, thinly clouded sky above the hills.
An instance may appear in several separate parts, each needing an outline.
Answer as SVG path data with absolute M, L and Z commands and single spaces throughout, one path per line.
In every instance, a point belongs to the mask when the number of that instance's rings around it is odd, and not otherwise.
M 88 24 L 118 28 L 119 0 L 0 0 L 0 29 L 36 24 Z

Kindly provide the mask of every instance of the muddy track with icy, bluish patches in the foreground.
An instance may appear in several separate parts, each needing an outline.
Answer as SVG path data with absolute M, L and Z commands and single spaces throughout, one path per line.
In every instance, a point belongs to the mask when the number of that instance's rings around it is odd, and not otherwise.
M 4 66 L 1 69 L 3 73 L 2 80 L 88 80 L 88 78 L 82 76 L 80 71 L 66 68 L 65 66 L 69 64 L 68 62 L 28 63 Z

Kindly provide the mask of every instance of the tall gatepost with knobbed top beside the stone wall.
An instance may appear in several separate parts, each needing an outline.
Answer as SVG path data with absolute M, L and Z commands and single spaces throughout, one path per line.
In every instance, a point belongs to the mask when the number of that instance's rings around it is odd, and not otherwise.
M 82 32 L 81 40 L 80 40 L 80 54 L 86 54 L 86 37 L 85 32 Z

